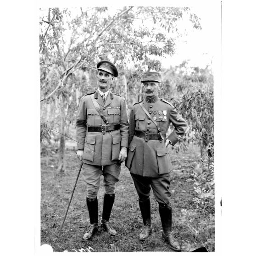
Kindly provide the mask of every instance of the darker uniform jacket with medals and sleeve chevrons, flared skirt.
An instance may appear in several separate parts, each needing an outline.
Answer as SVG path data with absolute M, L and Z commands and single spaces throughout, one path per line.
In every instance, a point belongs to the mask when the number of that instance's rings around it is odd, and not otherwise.
M 150 113 L 151 119 L 154 118 L 158 127 L 161 128 L 163 135 L 166 134 L 170 123 L 173 124 L 174 130 L 167 139 L 175 145 L 184 135 L 187 123 L 174 106 L 166 100 L 159 99 L 158 96 L 153 103 L 148 103 L 146 100 L 142 103 Z M 139 102 L 132 106 L 129 119 L 129 151 L 126 166 L 130 172 L 146 177 L 159 177 L 159 175 L 164 176 L 170 173 L 172 170 L 171 146 L 166 148 L 165 140 L 149 139 L 146 142 L 144 138 L 134 136 L 135 131 L 157 134 L 156 125 L 146 116 Z

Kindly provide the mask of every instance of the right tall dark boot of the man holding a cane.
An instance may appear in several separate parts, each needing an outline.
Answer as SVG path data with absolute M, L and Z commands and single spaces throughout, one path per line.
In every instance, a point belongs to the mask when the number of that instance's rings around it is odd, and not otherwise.
M 100 221 L 101 227 L 111 235 L 117 234 L 117 231 L 114 228 L 112 228 L 109 223 L 109 217 L 111 214 L 112 206 L 114 204 L 114 200 L 115 200 L 115 194 L 104 195 L 102 219 Z

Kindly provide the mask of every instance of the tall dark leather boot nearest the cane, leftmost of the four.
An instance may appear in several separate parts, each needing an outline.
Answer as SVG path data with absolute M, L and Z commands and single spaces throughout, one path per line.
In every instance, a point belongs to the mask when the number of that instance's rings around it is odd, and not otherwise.
M 91 239 L 98 232 L 98 199 L 89 199 L 86 197 L 86 204 L 89 211 L 90 226 L 89 230 L 83 235 L 84 240 Z

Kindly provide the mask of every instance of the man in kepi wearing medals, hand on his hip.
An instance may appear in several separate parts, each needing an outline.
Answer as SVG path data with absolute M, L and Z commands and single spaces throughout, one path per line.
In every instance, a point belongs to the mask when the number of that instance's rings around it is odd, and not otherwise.
M 132 106 L 129 120 L 129 151 L 126 166 L 129 168 L 139 195 L 139 208 L 144 228 L 139 234 L 145 240 L 152 233 L 150 217 L 150 189 L 159 204 L 163 228 L 162 238 L 173 249 L 180 251 L 172 228 L 172 205 L 170 202 L 170 145 L 175 145 L 184 135 L 187 123 L 172 104 L 158 97 L 162 89 L 159 72 L 145 72 L 141 81 L 145 99 Z M 166 132 L 173 124 L 173 132 Z

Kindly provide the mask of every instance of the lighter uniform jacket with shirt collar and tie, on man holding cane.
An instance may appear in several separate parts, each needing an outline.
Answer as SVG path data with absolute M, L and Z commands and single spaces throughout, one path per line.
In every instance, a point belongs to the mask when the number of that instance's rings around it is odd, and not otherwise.
M 109 92 L 105 104 L 96 90 L 97 102 L 110 124 L 120 124 L 120 129 L 106 132 L 87 132 L 87 126 L 106 125 L 90 97 L 82 97 L 77 112 L 78 150 L 83 149 L 83 162 L 91 165 L 111 165 L 118 161 L 121 147 L 128 147 L 128 120 L 125 99 Z M 113 99 L 111 99 L 113 98 Z

